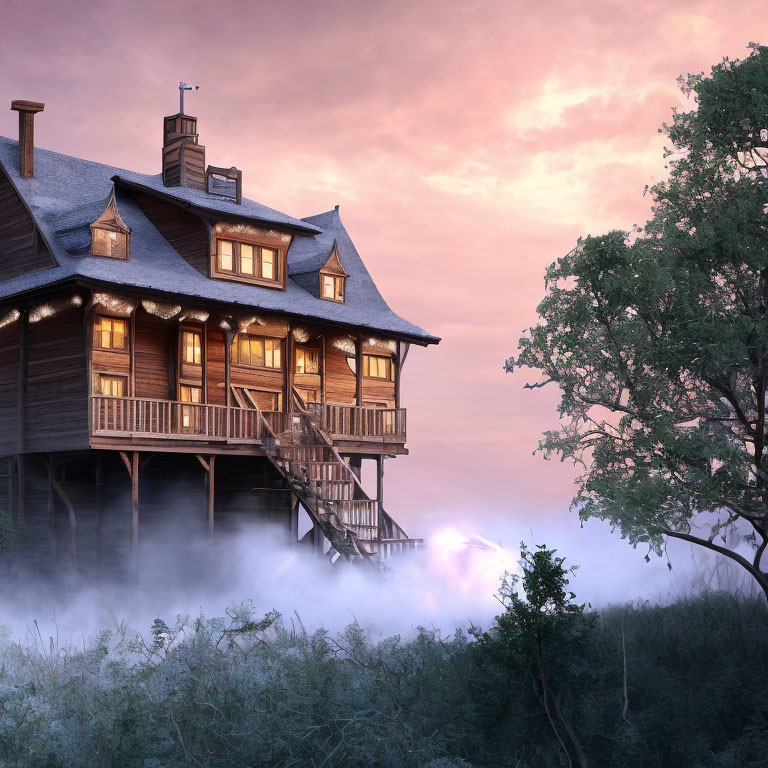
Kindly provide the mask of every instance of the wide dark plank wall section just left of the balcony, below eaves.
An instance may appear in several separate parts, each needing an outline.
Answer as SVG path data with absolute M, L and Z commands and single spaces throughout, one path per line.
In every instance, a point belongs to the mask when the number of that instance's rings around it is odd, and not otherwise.
M 88 446 L 88 378 L 82 307 L 27 328 L 27 451 Z

